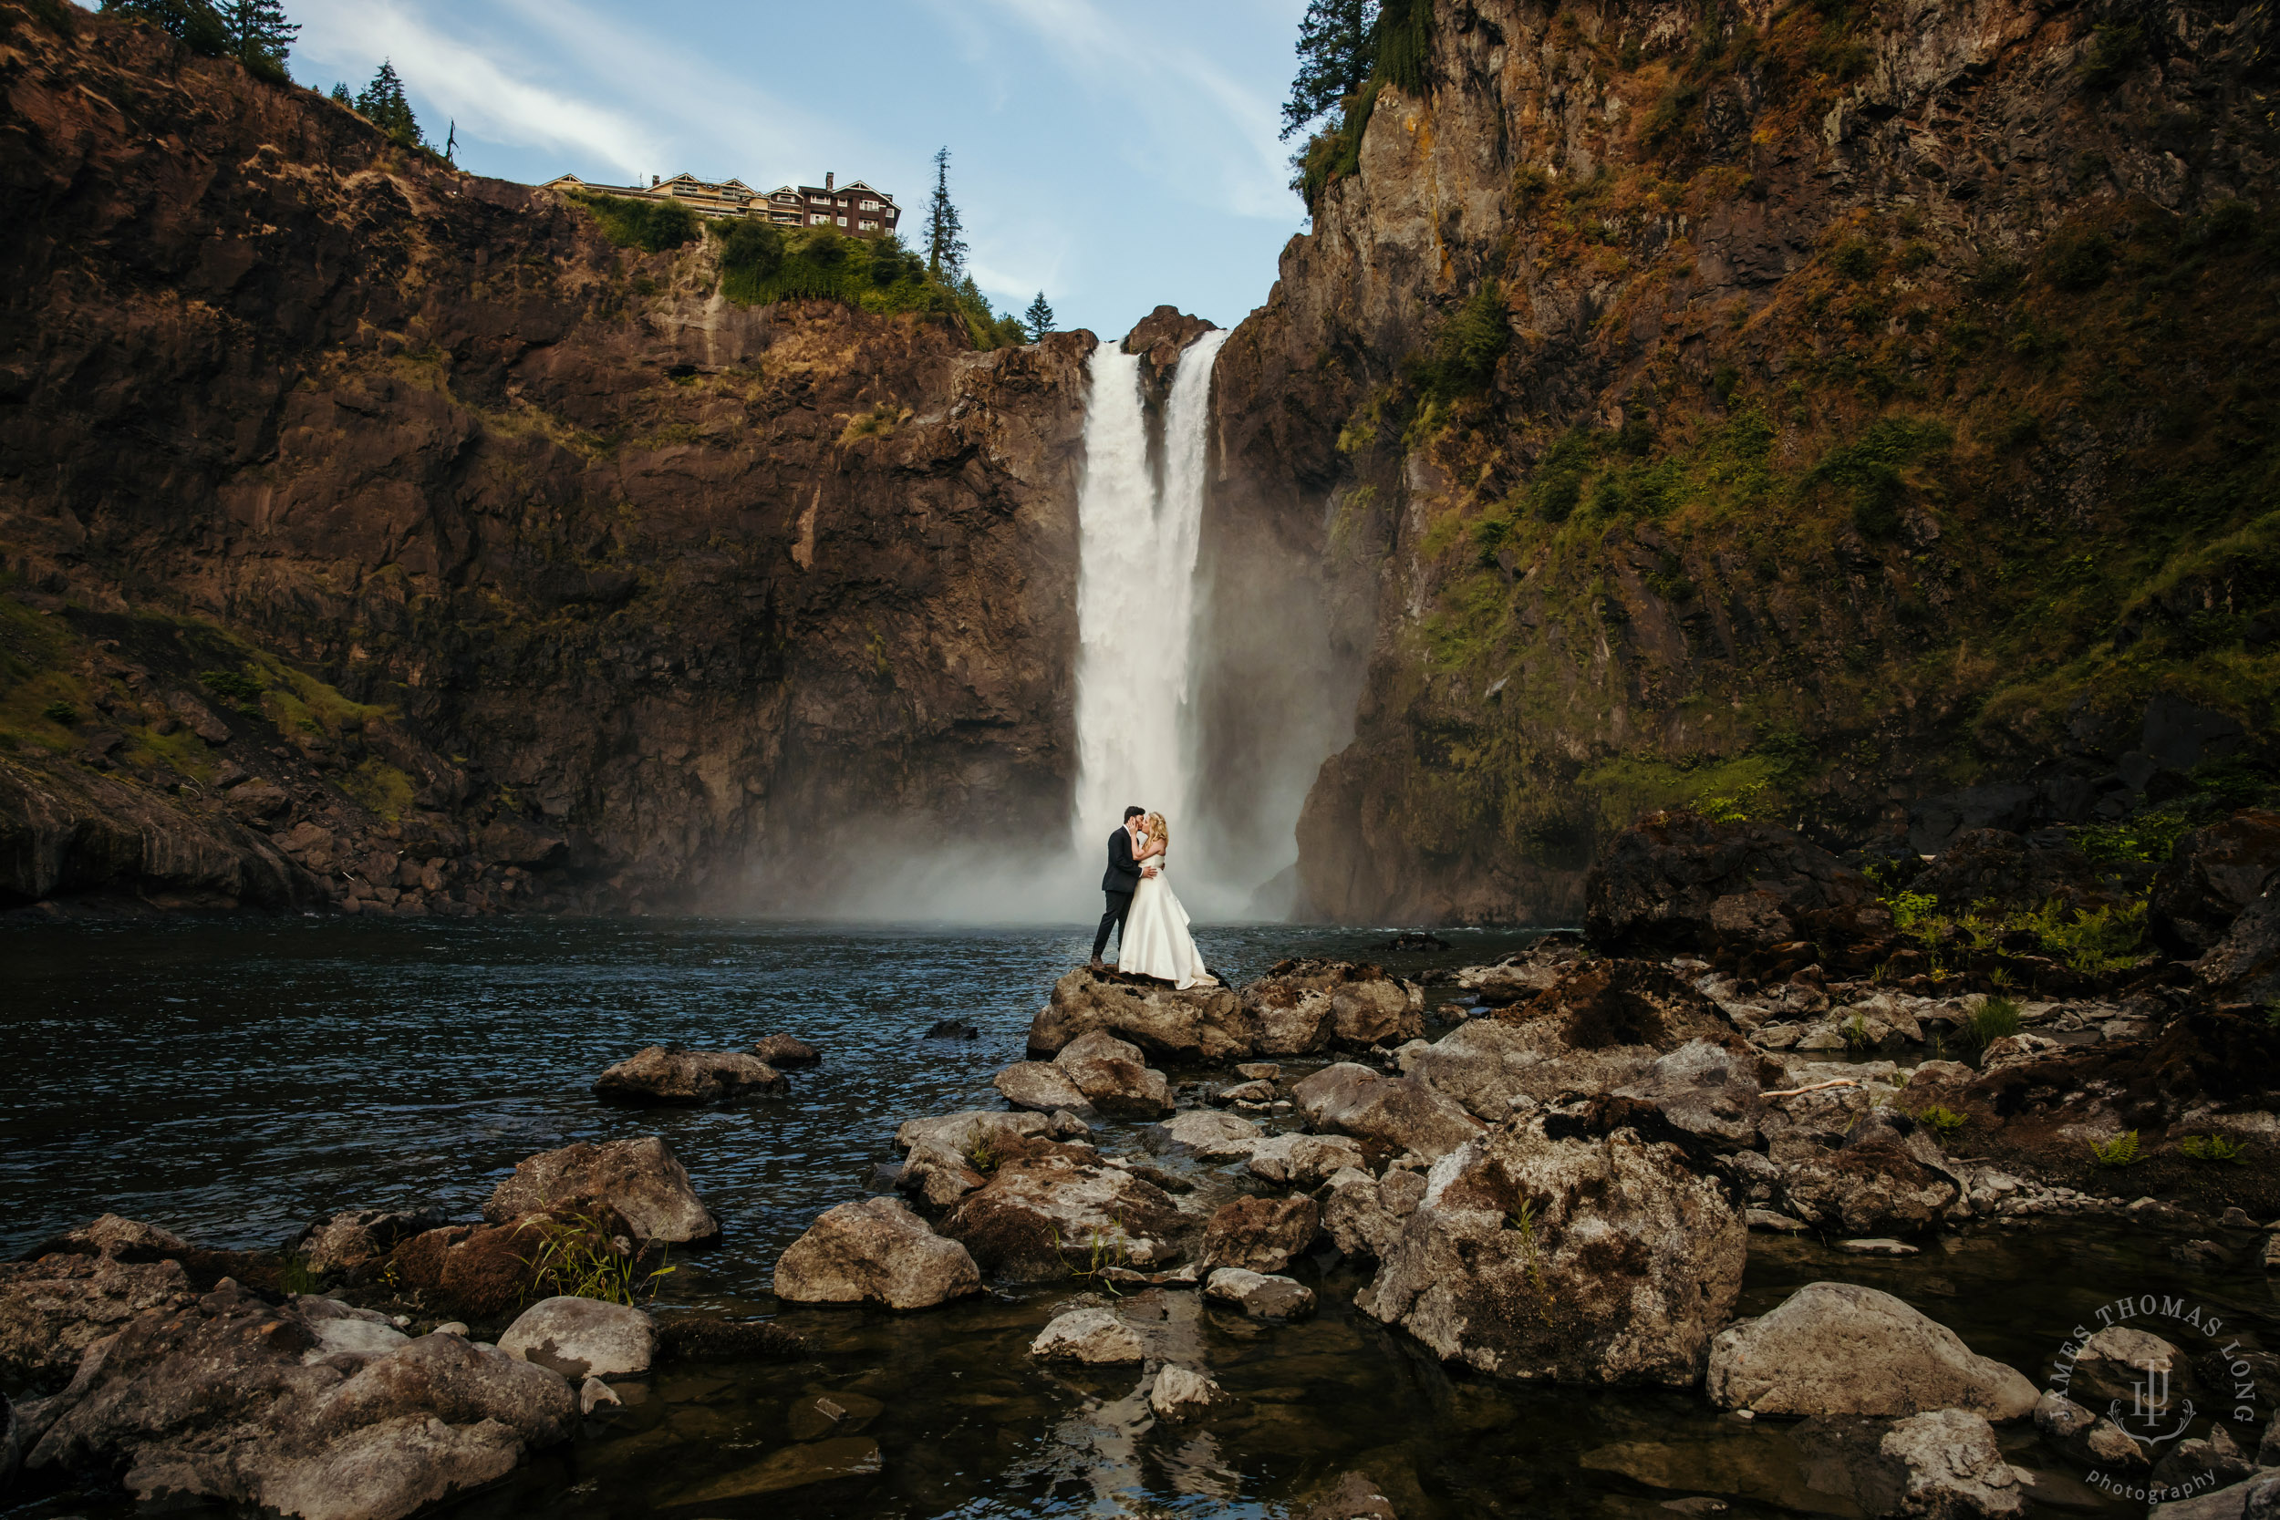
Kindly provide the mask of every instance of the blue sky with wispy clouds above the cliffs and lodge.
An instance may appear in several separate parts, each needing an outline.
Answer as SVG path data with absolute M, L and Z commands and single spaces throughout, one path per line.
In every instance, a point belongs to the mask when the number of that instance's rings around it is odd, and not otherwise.
M 1170 301 L 1233 326 L 1302 230 L 1275 139 L 1304 0 L 287 0 L 303 84 L 390 57 L 458 162 L 540 182 L 682 169 L 869 180 L 919 223 L 930 157 L 1001 310 L 1122 335 Z

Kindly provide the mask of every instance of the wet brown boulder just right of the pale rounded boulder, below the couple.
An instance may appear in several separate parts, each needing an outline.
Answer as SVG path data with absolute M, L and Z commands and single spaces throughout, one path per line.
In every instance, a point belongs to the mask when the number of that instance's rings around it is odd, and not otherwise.
M 996 1278 L 1049 1283 L 1072 1269 L 1167 1265 L 1195 1226 L 1172 1194 L 1088 1149 L 1008 1137 L 990 1180 L 958 1201 L 942 1233 Z

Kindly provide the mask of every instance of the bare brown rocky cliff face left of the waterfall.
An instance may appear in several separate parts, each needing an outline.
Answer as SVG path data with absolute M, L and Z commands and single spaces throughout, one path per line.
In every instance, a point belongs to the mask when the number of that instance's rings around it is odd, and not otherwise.
M 0 5 L 0 900 L 807 902 L 1058 841 L 1092 337 L 711 242 Z

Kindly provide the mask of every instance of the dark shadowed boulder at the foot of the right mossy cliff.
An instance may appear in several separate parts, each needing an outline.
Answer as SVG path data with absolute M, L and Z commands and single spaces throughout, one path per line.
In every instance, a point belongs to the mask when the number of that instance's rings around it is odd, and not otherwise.
M 1824 955 L 1876 943 L 1892 918 L 1874 884 L 1772 823 L 1642 818 L 1585 877 L 1585 939 L 1605 955 L 1762 950 L 1810 939 Z

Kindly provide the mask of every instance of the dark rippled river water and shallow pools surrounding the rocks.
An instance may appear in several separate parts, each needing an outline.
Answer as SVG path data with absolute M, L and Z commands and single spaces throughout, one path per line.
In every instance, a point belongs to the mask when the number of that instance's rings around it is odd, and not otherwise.
M 629 1388 L 625 1413 L 454 1513 L 1284 1515 L 1352 1468 L 1407 1520 L 1646 1520 L 1689 1495 L 1721 1495 L 1731 1515 L 1856 1513 L 1808 1486 L 1806 1458 L 1774 1422 L 1715 1415 L 1699 1395 L 1452 1374 L 1354 1315 L 1363 1274 L 1320 1262 L 1295 1269 L 1322 1294 L 1306 1324 L 1265 1329 L 1167 1294 L 1174 1333 L 1238 1397 L 1186 1429 L 1147 1417 L 1129 1370 L 1069 1374 L 1024 1354 L 1078 1283 L 907 1317 L 777 1306 L 775 1256 L 823 1208 L 873 1192 L 896 1123 L 999 1108 L 990 1076 L 1021 1057 L 1033 1012 L 1088 939 L 1081 927 L 720 921 L 9 930 L 0 1251 L 103 1210 L 239 1249 L 274 1247 L 337 1208 L 431 1203 L 472 1217 L 534 1151 L 661 1133 L 725 1228 L 723 1244 L 679 1258 L 661 1304 L 773 1317 L 807 1335 L 814 1358 L 668 1365 Z M 1398 955 L 1384 939 L 1199 930 L 1211 964 L 1238 980 L 1284 955 L 1416 975 L 1525 943 L 1455 930 L 1448 953 Z M 980 1039 L 919 1039 L 935 1019 L 971 1021 Z M 825 1053 L 821 1069 L 793 1073 L 787 1098 L 634 1112 L 588 1094 L 602 1067 L 643 1044 L 734 1048 L 775 1030 Z M 1142 1151 L 1138 1128 L 1097 1139 Z M 1808 1281 L 1867 1283 L 2041 1381 L 2095 1306 L 2171 1292 L 2223 1313 L 2248 1345 L 2280 1349 L 2262 1272 L 2191 1267 L 2171 1244 L 2073 1221 L 1943 1235 L 1917 1258 L 1874 1260 L 1753 1235 L 1740 1313 Z M 816 1429 L 816 1395 L 850 1411 L 837 1431 Z M 2143 1513 L 2084 1488 L 2031 1429 L 2004 1431 L 2004 1445 L 2038 1474 L 2031 1513 Z M 50 1493 L 5 1513 L 125 1515 L 132 1504 Z

